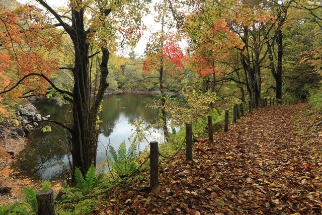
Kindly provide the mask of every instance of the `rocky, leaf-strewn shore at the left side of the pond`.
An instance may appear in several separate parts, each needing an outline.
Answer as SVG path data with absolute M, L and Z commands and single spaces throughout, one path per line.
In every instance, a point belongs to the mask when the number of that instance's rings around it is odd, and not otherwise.
M 39 188 L 41 182 L 29 178 L 18 177 L 12 163 L 19 162 L 14 158 L 28 144 L 27 136 L 36 129 L 41 129 L 39 121 L 50 116 L 42 117 L 35 106 L 27 104 L 20 106 L 15 117 L 5 118 L 0 122 L 0 151 L 9 152 L 10 156 L 0 155 L 0 205 L 20 201 L 21 189 L 24 186 Z M 59 188 L 59 184 L 57 189 Z M 55 187 L 55 188 L 56 188 Z

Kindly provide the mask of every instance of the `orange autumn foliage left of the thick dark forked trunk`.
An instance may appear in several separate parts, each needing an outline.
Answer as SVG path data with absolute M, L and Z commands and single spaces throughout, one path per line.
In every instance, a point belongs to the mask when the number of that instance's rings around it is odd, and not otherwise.
M 11 89 L 30 74 L 50 78 L 59 69 L 55 51 L 60 44 L 58 32 L 34 6 L 17 6 L 8 11 L 0 7 L 0 92 Z M 37 76 L 25 79 L 6 93 L 6 101 L 28 95 L 45 95 L 48 84 Z M 2 93 L 0 93 L 2 96 Z M 6 113 L 1 106 L 0 112 Z

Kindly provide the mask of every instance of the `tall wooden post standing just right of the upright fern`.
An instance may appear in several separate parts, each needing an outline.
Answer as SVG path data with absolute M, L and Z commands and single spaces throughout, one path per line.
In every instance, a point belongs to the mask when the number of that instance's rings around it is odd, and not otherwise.
M 157 141 L 150 142 L 150 190 L 159 185 L 159 149 Z

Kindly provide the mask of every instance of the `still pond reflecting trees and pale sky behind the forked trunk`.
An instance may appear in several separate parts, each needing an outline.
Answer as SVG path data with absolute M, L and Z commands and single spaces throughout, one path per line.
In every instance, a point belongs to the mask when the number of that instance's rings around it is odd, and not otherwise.
M 130 122 L 140 119 L 144 123 L 153 123 L 156 120 L 157 110 L 146 105 L 152 103 L 153 98 L 137 94 L 111 95 L 104 98 L 96 158 L 98 167 L 106 161 L 106 155 L 109 156 L 108 145 L 115 149 L 122 141 L 125 141 L 127 146 L 130 145 L 128 137 L 134 128 Z M 51 120 L 66 122 L 71 115 L 69 105 L 58 106 L 48 101 L 38 101 L 34 105 L 42 116 L 50 115 Z M 149 141 L 162 138 L 159 129 L 151 130 L 151 135 L 147 135 Z M 28 138 L 29 144 L 17 157 L 19 162 L 15 162 L 15 169 L 33 179 L 65 179 L 69 165 L 64 130 L 51 125 L 51 132 L 35 130 Z M 145 146 L 146 143 L 140 144 L 140 151 Z M 107 168 L 102 167 L 105 171 Z

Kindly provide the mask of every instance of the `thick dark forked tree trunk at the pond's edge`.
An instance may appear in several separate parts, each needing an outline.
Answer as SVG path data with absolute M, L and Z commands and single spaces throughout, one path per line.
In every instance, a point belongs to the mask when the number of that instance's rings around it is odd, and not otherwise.
M 83 175 L 86 175 L 91 165 L 96 166 L 96 151 L 99 130 L 97 127 L 97 115 L 99 106 L 103 99 L 105 89 L 108 87 L 106 78 L 108 75 L 107 63 L 109 51 L 102 48 L 102 60 L 100 64 L 100 77 L 98 87 L 94 90 L 95 95 L 91 95 L 91 80 L 89 69 L 89 44 L 87 43 L 87 32 L 84 29 L 84 12 L 72 10 L 71 36 L 74 51 L 75 65 L 73 68 L 73 124 L 71 133 L 71 155 L 72 174 L 77 167 Z M 73 177 L 72 177 L 73 178 Z M 73 180 L 74 181 L 74 180 Z

